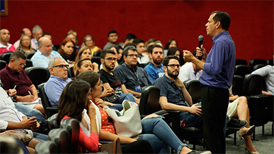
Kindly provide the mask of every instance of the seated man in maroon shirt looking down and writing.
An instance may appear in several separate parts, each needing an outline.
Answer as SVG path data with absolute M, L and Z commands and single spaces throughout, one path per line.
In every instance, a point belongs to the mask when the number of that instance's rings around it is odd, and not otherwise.
M 38 99 L 38 92 L 32 81 L 27 77 L 25 70 L 23 70 L 25 66 L 27 57 L 21 51 L 15 51 L 10 55 L 10 62 L 5 68 L 0 70 L 1 73 L 1 81 L 3 83 L 3 89 L 8 92 L 10 97 L 13 97 L 14 102 L 29 102 L 27 107 L 38 110 L 40 113 L 45 115 L 45 110 L 41 104 L 31 103 Z M 16 94 L 14 94 L 16 93 Z M 22 105 L 16 104 L 17 110 L 23 112 L 24 114 L 28 114 L 27 116 L 33 116 L 36 114 L 38 120 L 46 121 L 45 116 L 42 114 L 37 114 L 36 112 L 30 112 Z

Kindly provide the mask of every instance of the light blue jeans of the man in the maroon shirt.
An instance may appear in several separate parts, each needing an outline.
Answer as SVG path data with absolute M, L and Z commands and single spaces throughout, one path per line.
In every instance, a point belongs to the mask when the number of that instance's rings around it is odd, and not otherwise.
M 42 115 L 41 112 L 37 109 L 31 109 L 30 107 L 27 107 L 21 103 L 14 103 L 14 105 L 19 112 L 22 112 L 26 116 L 36 116 L 37 120 L 41 120 L 43 123 L 47 124 L 46 117 Z

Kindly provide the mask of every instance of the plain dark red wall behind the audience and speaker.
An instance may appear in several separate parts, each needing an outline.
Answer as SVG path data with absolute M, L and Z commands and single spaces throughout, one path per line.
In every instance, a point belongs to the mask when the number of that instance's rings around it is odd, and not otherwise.
M 75 29 L 79 44 L 86 34 L 103 48 L 110 29 L 123 42 L 128 33 L 145 41 L 175 38 L 179 49 L 194 51 L 198 36 L 210 51 L 212 38 L 206 36 L 210 12 L 221 10 L 232 17 L 229 33 L 236 44 L 236 58 L 251 60 L 273 57 L 273 1 L 8 1 L 8 16 L 1 28 L 11 33 L 13 43 L 23 27 L 40 25 L 60 44 L 67 31 Z

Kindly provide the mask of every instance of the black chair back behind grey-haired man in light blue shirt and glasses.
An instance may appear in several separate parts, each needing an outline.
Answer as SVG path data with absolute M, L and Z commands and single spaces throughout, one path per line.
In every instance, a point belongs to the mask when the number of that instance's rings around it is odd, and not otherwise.
M 41 100 L 42 100 L 42 106 L 45 109 L 47 118 L 49 118 L 53 114 L 58 113 L 58 111 L 57 111 L 57 108 L 52 107 L 51 103 L 49 102 L 49 98 L 47 97 L 47 94 L 45 93 L 45 89 L 44 89 L 45 84 L 46 83 L 38 85 L 38 90 L 39 90 L 38 96 L 41 98 Z

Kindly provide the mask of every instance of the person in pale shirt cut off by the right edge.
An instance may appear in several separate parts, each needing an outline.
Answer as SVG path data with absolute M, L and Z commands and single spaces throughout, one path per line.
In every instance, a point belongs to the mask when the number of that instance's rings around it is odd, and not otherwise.
M 274 62 L 274 52 L 273 52 L 273 62 Z M 267 65 L 258 70 L 254 70 L 254 75 L 260 75 L 264 77 L 266 82 L 266 91 L 262 90 L 262 94 L 274 94 L 274 66 Z

